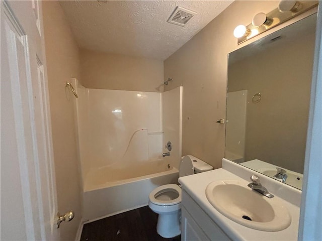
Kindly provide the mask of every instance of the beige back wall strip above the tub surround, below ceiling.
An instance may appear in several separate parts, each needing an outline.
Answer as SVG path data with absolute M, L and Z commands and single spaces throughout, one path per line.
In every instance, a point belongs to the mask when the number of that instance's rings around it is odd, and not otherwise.
M 163 92 L 163 61 L 81 50 L 83 85 L 96 89 Z

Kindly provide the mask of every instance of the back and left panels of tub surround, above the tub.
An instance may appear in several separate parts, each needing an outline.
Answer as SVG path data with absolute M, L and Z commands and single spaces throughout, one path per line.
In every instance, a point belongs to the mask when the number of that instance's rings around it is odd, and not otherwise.
M 92 168 L 160 158 L 162 93 L 86 90 L 77 99 L 83 179 Z

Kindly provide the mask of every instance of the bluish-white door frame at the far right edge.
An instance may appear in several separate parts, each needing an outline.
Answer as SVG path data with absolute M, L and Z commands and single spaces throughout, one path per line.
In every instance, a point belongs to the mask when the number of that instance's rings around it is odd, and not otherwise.
M 322 3 L 319 4 L 298 240 L 322 240 Z

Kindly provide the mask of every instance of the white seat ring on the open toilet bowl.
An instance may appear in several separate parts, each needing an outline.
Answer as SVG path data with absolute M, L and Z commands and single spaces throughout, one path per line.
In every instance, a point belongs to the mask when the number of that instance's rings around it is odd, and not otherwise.
M 157 199 L 157 197 L 155 197 L 166 192 L 176 192 L 178 194 L 178 197 L 172 200 L 159 200 Z M 181 203 L 181 188 L 177 184 L 159 186 L 155 188 L 152 192 L 150 192 L 149 201 L 155 205 L 160 206 L 171 206 Z

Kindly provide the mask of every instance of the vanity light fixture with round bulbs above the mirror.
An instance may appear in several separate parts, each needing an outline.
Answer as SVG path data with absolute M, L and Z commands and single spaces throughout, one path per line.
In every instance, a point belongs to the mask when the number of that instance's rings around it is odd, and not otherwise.
M 271 12 L 258 13 L 254 16 L 251 24 L 244 26 L 238 25 L 234 31 L 233 36 L 237 38 L 237 44 L 241 44 L 265 31 L 278 26 L 295 16 L 302 14 L 312 8 L 318 6 L 320 1 L 293 1 L 282 0 L 278 8 Z

